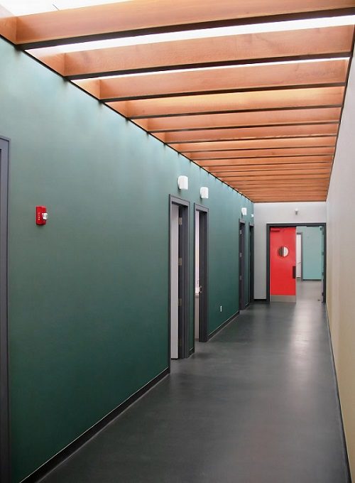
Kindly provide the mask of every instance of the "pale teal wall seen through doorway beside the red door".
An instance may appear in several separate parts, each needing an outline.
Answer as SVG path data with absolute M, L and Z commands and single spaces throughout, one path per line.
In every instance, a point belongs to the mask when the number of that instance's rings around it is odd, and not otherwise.
M 297 227 L 297 233 L 302 233 L 302 279 L 322 280 L 322 230 L 320 227 Z

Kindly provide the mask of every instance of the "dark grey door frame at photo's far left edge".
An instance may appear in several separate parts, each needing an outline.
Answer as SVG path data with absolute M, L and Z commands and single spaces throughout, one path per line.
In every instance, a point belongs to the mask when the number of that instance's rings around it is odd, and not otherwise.
M 0 137 L 0 479 L 10 482 L 8 207 L 9 139 Z

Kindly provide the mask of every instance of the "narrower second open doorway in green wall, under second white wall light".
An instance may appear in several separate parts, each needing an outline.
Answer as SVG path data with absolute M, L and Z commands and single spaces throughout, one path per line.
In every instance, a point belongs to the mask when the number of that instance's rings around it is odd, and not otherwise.
M 208 340 L 208 208 L 195 203 L 195 340 Z

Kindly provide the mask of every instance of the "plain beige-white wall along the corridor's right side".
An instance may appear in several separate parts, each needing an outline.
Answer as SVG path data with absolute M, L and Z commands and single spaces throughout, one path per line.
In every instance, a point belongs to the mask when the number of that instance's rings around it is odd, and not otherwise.
M 355 479 L 355 62 L 327 199 L 327 308 L 351 474 Z

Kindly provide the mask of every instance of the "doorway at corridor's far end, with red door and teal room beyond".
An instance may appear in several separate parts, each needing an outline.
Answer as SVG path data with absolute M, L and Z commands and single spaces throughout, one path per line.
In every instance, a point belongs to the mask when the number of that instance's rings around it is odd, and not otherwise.
M 326 224 L 268 224 L 267 301 L 326 300 Z

